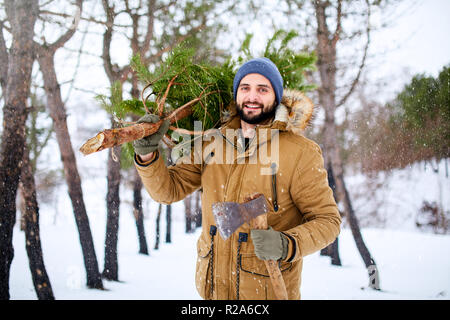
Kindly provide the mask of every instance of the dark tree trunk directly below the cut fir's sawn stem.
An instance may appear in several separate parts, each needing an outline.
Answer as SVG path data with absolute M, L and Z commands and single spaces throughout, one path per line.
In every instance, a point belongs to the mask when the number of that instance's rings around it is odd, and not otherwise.
M 119 263 L 117 259 L 117 240 L 119 232 L 120 207 L 120 158 L 121 147 L 109 149 L 108 154 L 108 192 L 106 194 L 106 237 L 105 237 L 105 264 L 102 272 L 103 278 L 119 281 Z

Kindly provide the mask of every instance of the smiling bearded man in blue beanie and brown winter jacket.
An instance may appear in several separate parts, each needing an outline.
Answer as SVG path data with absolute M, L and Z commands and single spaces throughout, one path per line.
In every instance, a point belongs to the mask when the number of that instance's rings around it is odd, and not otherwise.
M 263 261 L 275 260 L 288 298 L 300 299 L 303 257 L 332 243 L 341 223 L 321 150 L 301 134 L 312 112 L 305 110 L 303 94 L 283 90 L 280 72 L 267 58 L 239 68 L 233 95 L 234 112 L 215 139 L 202 145 L 203 152 L 212 150 L 211 144 L 220 146 L 214 150 L 231 149 L 231 156 L 207 152 L 201 163 L 166 167 L 158 151 L 169 127 L 166 121 L 157 133 L 134 143 L 136 168 L 150 196 L 160 203 L 180 201 L 201 188 L 195 280 L 202 298 L 276 299 Z M 157 122 L 159 117 L 146 115 L 140 121 Z M 232 139 L 230 130 L 237 132 Z M 261 148 L 272 150 L 270 161 L 261 158 Z M 251 230 L 243 224 L 226 240 L 218 236 L 212 205 L 242 203 L 255 193 L 269 203 L 269 229 Z

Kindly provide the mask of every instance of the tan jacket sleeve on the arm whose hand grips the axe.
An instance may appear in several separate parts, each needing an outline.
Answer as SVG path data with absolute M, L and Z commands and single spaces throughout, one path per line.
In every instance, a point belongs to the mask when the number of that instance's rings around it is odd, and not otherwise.
M 291 197 L 303 215 L 301 225 L 283 232 L 291 245 L 288 261 L 298 260 L 332 243 L 341 217 L 328 185 L 321 150 L 314 144 L 302 151 L 292 177 Z

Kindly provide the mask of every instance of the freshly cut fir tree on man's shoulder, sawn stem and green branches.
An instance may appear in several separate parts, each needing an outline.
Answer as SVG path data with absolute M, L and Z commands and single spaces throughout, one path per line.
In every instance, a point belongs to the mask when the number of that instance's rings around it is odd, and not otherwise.
M 275 32 L 261 56 L 278 66 L 285 79 L 285 88 L 306 91 L 313 86 L 305 84 L 304 72 L 314 68 L 316 58 L 313 54 L 296 53 L 289 48 L 289 42 L 296 36 L 293 31 Z M 243 42 L 239 63 L 252 58 L 250 40 L 251 35 Z M 108 112 L 118 118 L 127 112 L 138 115 L 147 112 L 158 114 L 161 120 L 104 130 L 80 148 L 84 155 L 149 136 L 158 131 L 166 119 L 170 121 L 172 130 L 182 129 L 188 133 L 192 133 L 194 121 L 201 121 L 204 130 L 218 127 L 222 115 L 233 103 L 236 63 L 231 59 L 219 65 L 198 63 L 194 49 L 182 43 L 153 73 L 141 62 L 139 55 L 133 57 L 132 67 L 146 84 L 141 99 L 114 103 Z

